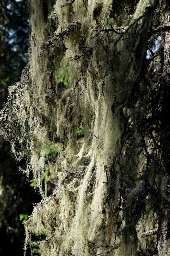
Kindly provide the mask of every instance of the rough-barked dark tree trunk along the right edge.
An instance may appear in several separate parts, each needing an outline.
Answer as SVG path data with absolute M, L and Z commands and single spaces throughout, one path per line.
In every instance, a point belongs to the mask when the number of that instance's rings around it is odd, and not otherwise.
M 170 3 L 167 1 L 165 8 L 165 26 L 170 26 Z M 167 175 L 170 175 L 170 31 L 165 32 L 164 44 L 164 64 L 163 64 L 163 100 L 162 100 L 162 166 L 166 168 Z M 161 180 L 161 190 L 166 198 L 169 198 L 170 183 L 167 177 Z M 170 208 L 169 206 L 161 211 L 158 221 L 158 242 L 157 252 L 160 256 L 169 255 L 167 250 L 169 247 L 168 239 L 170 238 Z

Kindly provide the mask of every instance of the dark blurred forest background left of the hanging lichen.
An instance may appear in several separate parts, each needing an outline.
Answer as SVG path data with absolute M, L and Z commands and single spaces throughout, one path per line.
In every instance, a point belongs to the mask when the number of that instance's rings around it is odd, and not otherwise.
M 26 0 L 0 0 L 0 109 L 8 97 L 8 86 L 19 80 L 26 65 L 29 19 Z M 40 196 L 19 172 L 10 144 L 0 138 L 0 255 L 23 255 L 24 225 L 32 203 Z M 35 250 L 35 252 L 37 252 Z M 34 253 L 34 255 L 36 255 Z

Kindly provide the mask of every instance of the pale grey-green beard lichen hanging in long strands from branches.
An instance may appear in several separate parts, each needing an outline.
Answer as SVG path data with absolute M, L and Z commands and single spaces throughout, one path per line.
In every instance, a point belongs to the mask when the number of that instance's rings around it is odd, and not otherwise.
M 156 246 L 159 211 L 169 205 L 157 184 L 169 176 L 152 119 L 160 82 L 145 75 L 162 1 L 140 0 L 133 15 L 122 12 L 123 27 L 109 24 L 113 8 L 111 0 L 29 0 L 29 60 L 1 114 L 2 135 L 44 197 L 25 223 L 25 251 L 32 233 L 45 236 L 42 256 L 145 255 Z M 49 143 L 61 145 L 57 157 Z M 56 190 L 45 197 L 42 177 L 54 163 Z

